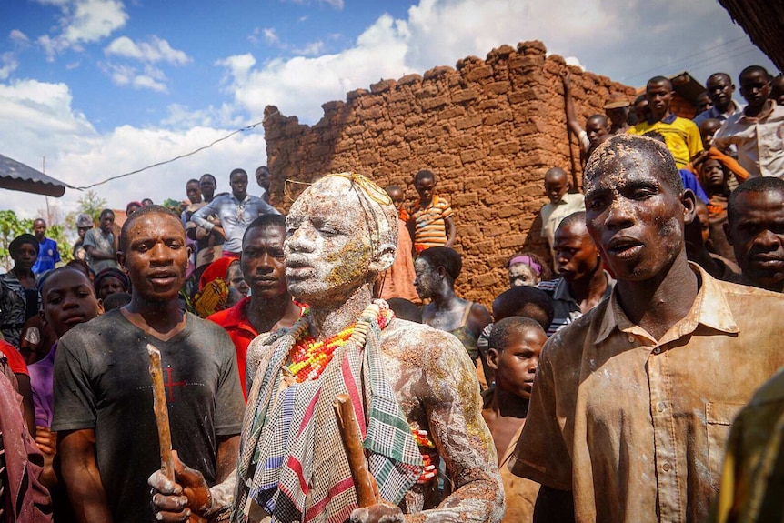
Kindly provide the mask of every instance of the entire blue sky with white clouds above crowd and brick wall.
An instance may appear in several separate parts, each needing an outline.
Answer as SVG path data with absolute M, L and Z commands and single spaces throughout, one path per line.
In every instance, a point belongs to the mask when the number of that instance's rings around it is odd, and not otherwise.
M 0 153 L 75 186 L 166 160 L 261 120 L 313 124 L 380 78 L 498 45 L 548 51 L 630 85 L 774 67 L 716 0 L 0 0 Z M 100 186 L 110 206 L 182 198 L 190 177 L 266 163 L 263 130 Z M 20 197 L 22 196 L 22 197 Z M 51 200 L 62 214 L 79 193 Z M 0 191 L 35 216 L 42 196 Z

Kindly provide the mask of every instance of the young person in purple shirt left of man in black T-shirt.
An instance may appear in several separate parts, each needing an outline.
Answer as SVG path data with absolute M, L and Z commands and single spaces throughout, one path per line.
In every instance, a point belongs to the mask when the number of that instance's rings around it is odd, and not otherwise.
M 103 307 L 95 297 L 93 284 L 83 272 L 74 267 L 60 267 L 49 273 L 41 287 L 41 298 L 44 305 L 41 316 L 45 323 L 52 327 L 58 339 L 71 327 L 90 321 L 103 313 Z M 57 434 L 50 429 L 55 404 L 53 372 L 56 352 L 55 342 L 44 359 L 27 367 L 30 387 L 33 389 L 35 443 L 45 458 L 42 481 L 50 490 L 56 488 L 52 461 L 55 458 Z

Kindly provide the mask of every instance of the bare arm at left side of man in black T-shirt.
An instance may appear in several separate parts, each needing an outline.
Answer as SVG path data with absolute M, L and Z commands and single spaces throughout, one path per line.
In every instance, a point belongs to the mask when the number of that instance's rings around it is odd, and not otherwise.
M 57 438 L 63 481 L 80 523 L 112 521 L 106 490 L 95 463 L 95 430 L 69 430 Z

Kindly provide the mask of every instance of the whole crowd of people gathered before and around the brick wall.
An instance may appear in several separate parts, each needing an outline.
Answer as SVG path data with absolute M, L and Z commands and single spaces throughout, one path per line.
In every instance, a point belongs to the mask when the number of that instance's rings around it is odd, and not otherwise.
M 781 520 L 782 77 L 742 106 L 710 75 L 689 120 L 656 76 L 584 127 L 561 79 L 582 191 L 545 173 L 548 249 L 491 311 L 427 169 L 287 216 L 266 167 L 206 174 L 78 216 L 65 265 L 36 219 L 0 275 L 0 520 Z

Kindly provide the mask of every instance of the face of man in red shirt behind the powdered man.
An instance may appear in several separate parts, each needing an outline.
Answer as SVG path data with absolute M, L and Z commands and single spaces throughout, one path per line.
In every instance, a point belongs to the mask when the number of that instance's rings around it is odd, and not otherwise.
M 282 226 L 255 227 L 246 232 L 242 243 L 242 274 L 253 296 L 266 299 L 286 294 L 286 266 Z

